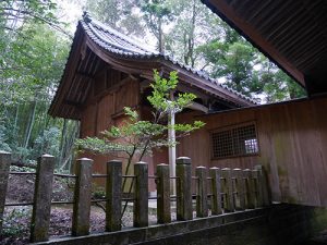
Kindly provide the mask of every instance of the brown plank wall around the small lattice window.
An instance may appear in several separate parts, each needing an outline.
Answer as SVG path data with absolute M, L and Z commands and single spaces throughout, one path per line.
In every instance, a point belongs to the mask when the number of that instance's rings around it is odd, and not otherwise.
M 194 166 L 253 168 L 268 171 L 275 201 L 327 206 L 327 98 L 267 105 L 211 115 L 181 114 L 206 126 L 183 138 L 178 156 L 189 156 Z M 253 157 L 210 158 L 210 131 L 249 121 L 256 123 L 259 154 Z

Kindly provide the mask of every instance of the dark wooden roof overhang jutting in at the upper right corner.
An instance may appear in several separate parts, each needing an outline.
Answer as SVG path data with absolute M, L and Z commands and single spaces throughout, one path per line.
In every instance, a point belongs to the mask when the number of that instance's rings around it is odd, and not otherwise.
M 327 93 L 327 1 L 202 1 L 310 95 Z

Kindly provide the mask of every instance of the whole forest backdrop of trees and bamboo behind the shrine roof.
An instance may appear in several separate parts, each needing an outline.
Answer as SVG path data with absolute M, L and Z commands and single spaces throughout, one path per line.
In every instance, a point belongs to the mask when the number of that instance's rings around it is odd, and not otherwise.
M 261 102 L 305 96 L 291 77 L 199 0 L 74 2 L 95 19 L 126 35 L 152 40 L 159 51 Z M 69 169 L 78 123 L 47 113 L 73 36 L 57 3 L 0 2 L 0 150 L 12 151 L 20 162 L 52 154 L 58 168 Z

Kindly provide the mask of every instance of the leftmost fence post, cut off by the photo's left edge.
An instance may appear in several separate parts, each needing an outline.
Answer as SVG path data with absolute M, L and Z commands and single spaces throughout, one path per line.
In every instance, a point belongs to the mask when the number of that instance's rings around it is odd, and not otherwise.
M 2 232 L 2 219 L 3 219 L 3 211 L 4 211 L 10 163 L 11 163 L 11 154 L 0 151 L 0 236 Z

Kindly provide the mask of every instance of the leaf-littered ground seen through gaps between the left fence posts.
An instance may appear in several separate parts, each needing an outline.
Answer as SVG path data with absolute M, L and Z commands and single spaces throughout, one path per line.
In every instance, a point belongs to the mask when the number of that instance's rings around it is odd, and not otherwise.
M 73 200 L 73 183 L 55 179 L 52 200 Z M 5 203 L 31 203 L 34 194 L 33 175 L 10 175 Z M 129 206 L 122 218 L 124 226 L 132 226 L 133 213 Z M 56 205 L 51 208 L 50 236 L 62 236 L 71 234 L 72 205 Z M 29 225 L 32 219 L 32 206 L 5 207 L 3 216 L 3 230 L 0 240 L 1 245 L 27 244 L 29 240 Z M 105 231 L 105 211 L 96 206 L 90 211 L 90 232 Z M 150 222 L 156 222 L 156 216 L 150 216 Z

